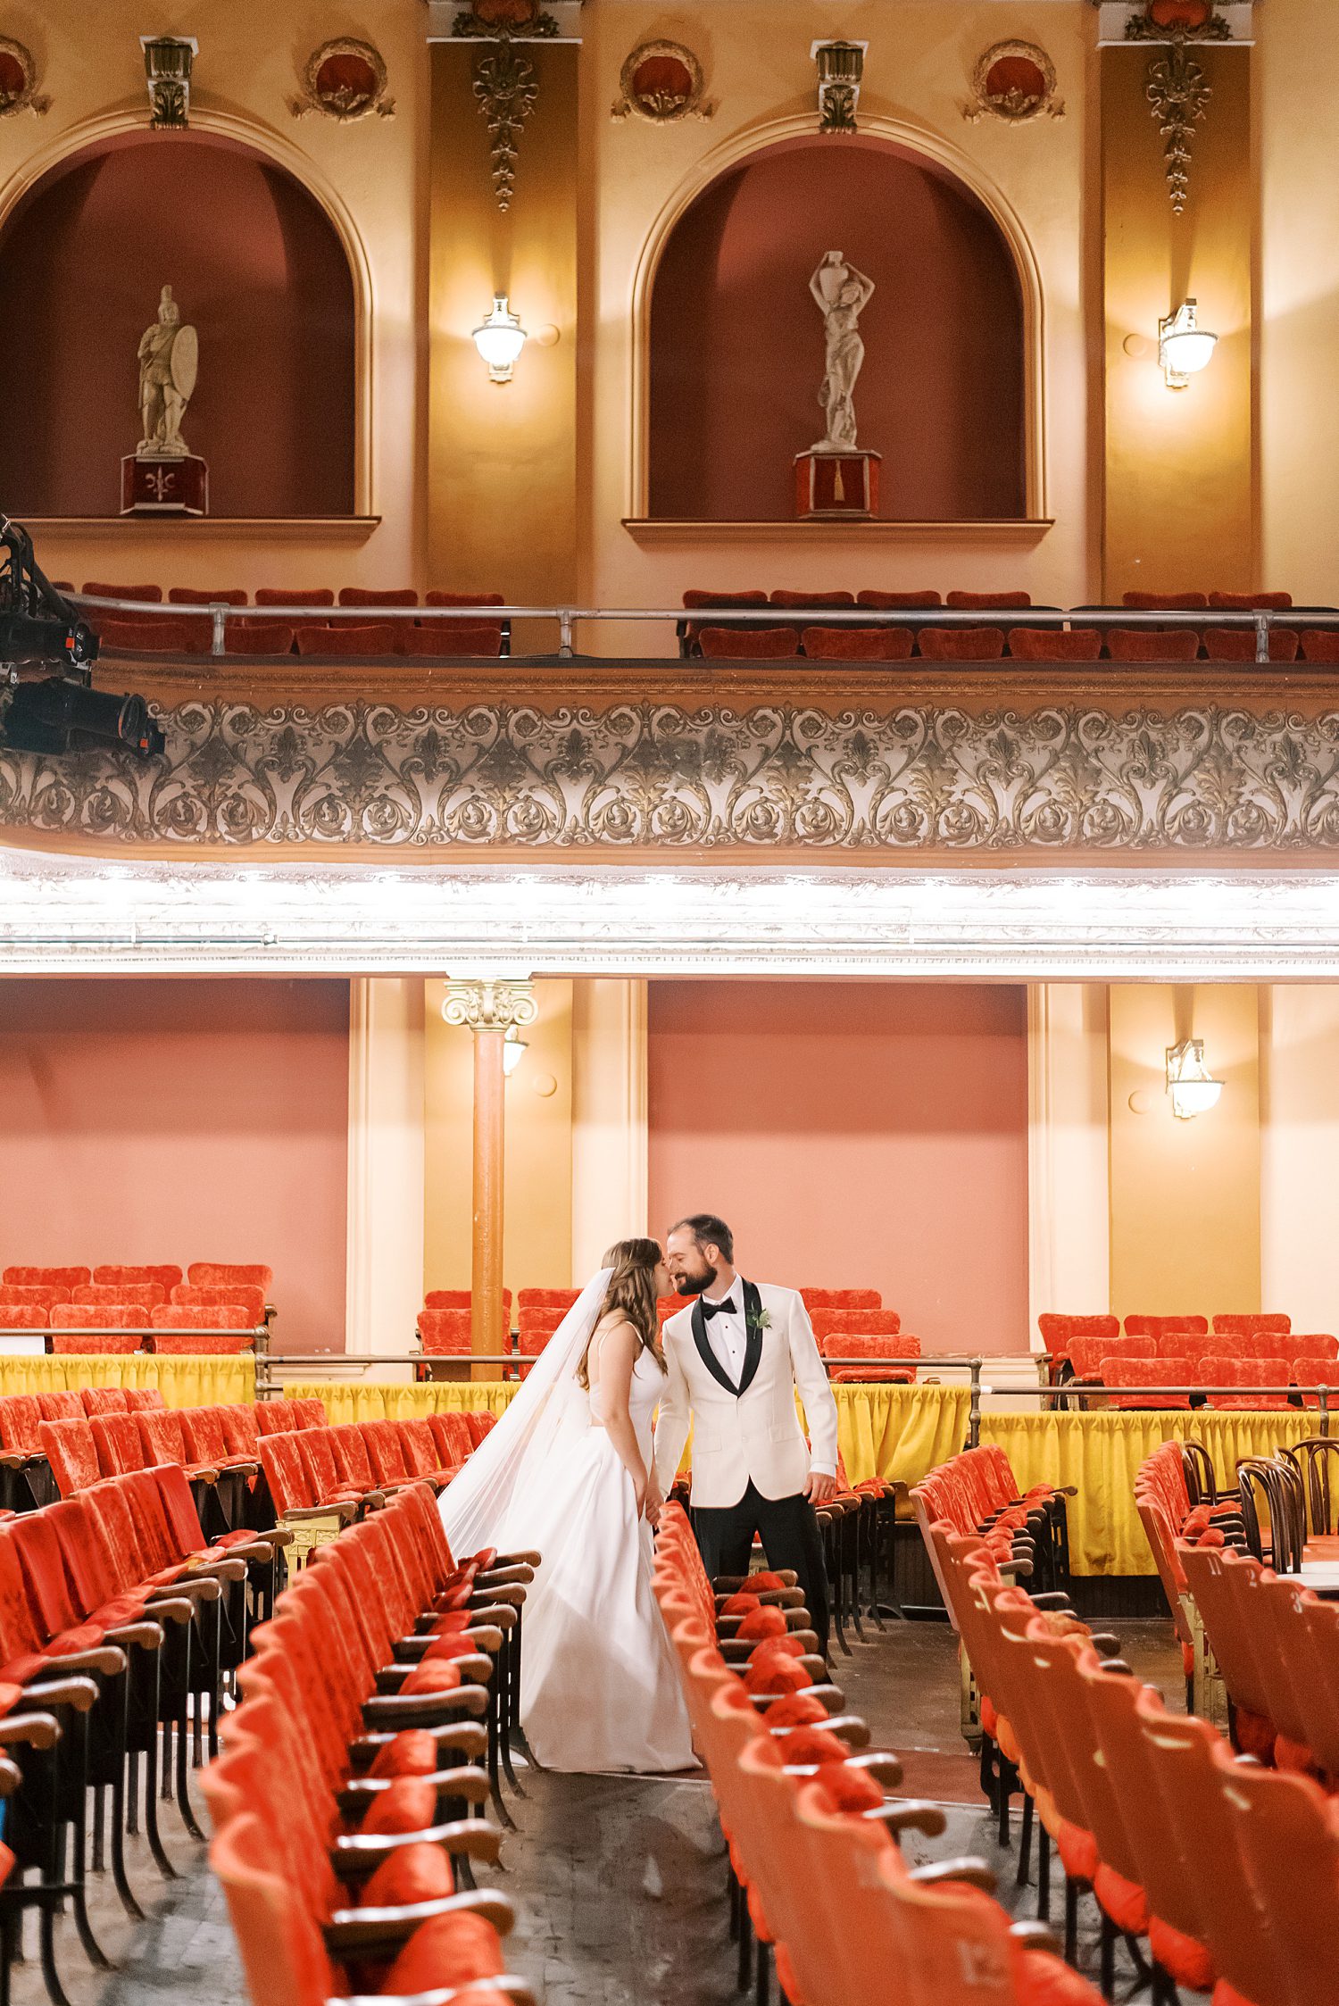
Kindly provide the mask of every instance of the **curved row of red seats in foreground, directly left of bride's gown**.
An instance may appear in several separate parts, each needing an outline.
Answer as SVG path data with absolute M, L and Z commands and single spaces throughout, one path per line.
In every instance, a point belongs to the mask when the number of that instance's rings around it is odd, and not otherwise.
M 529 2000 L 505 1976 L 505 1896 L 477 1890 L 479 1715 L 529 1561 L 457 1565 L 427 1486 L 321 1549 L 255 1635 L 204 1775 L 255 2006 Z M 475 1990 L 481 1988 L 481 1990 Z

